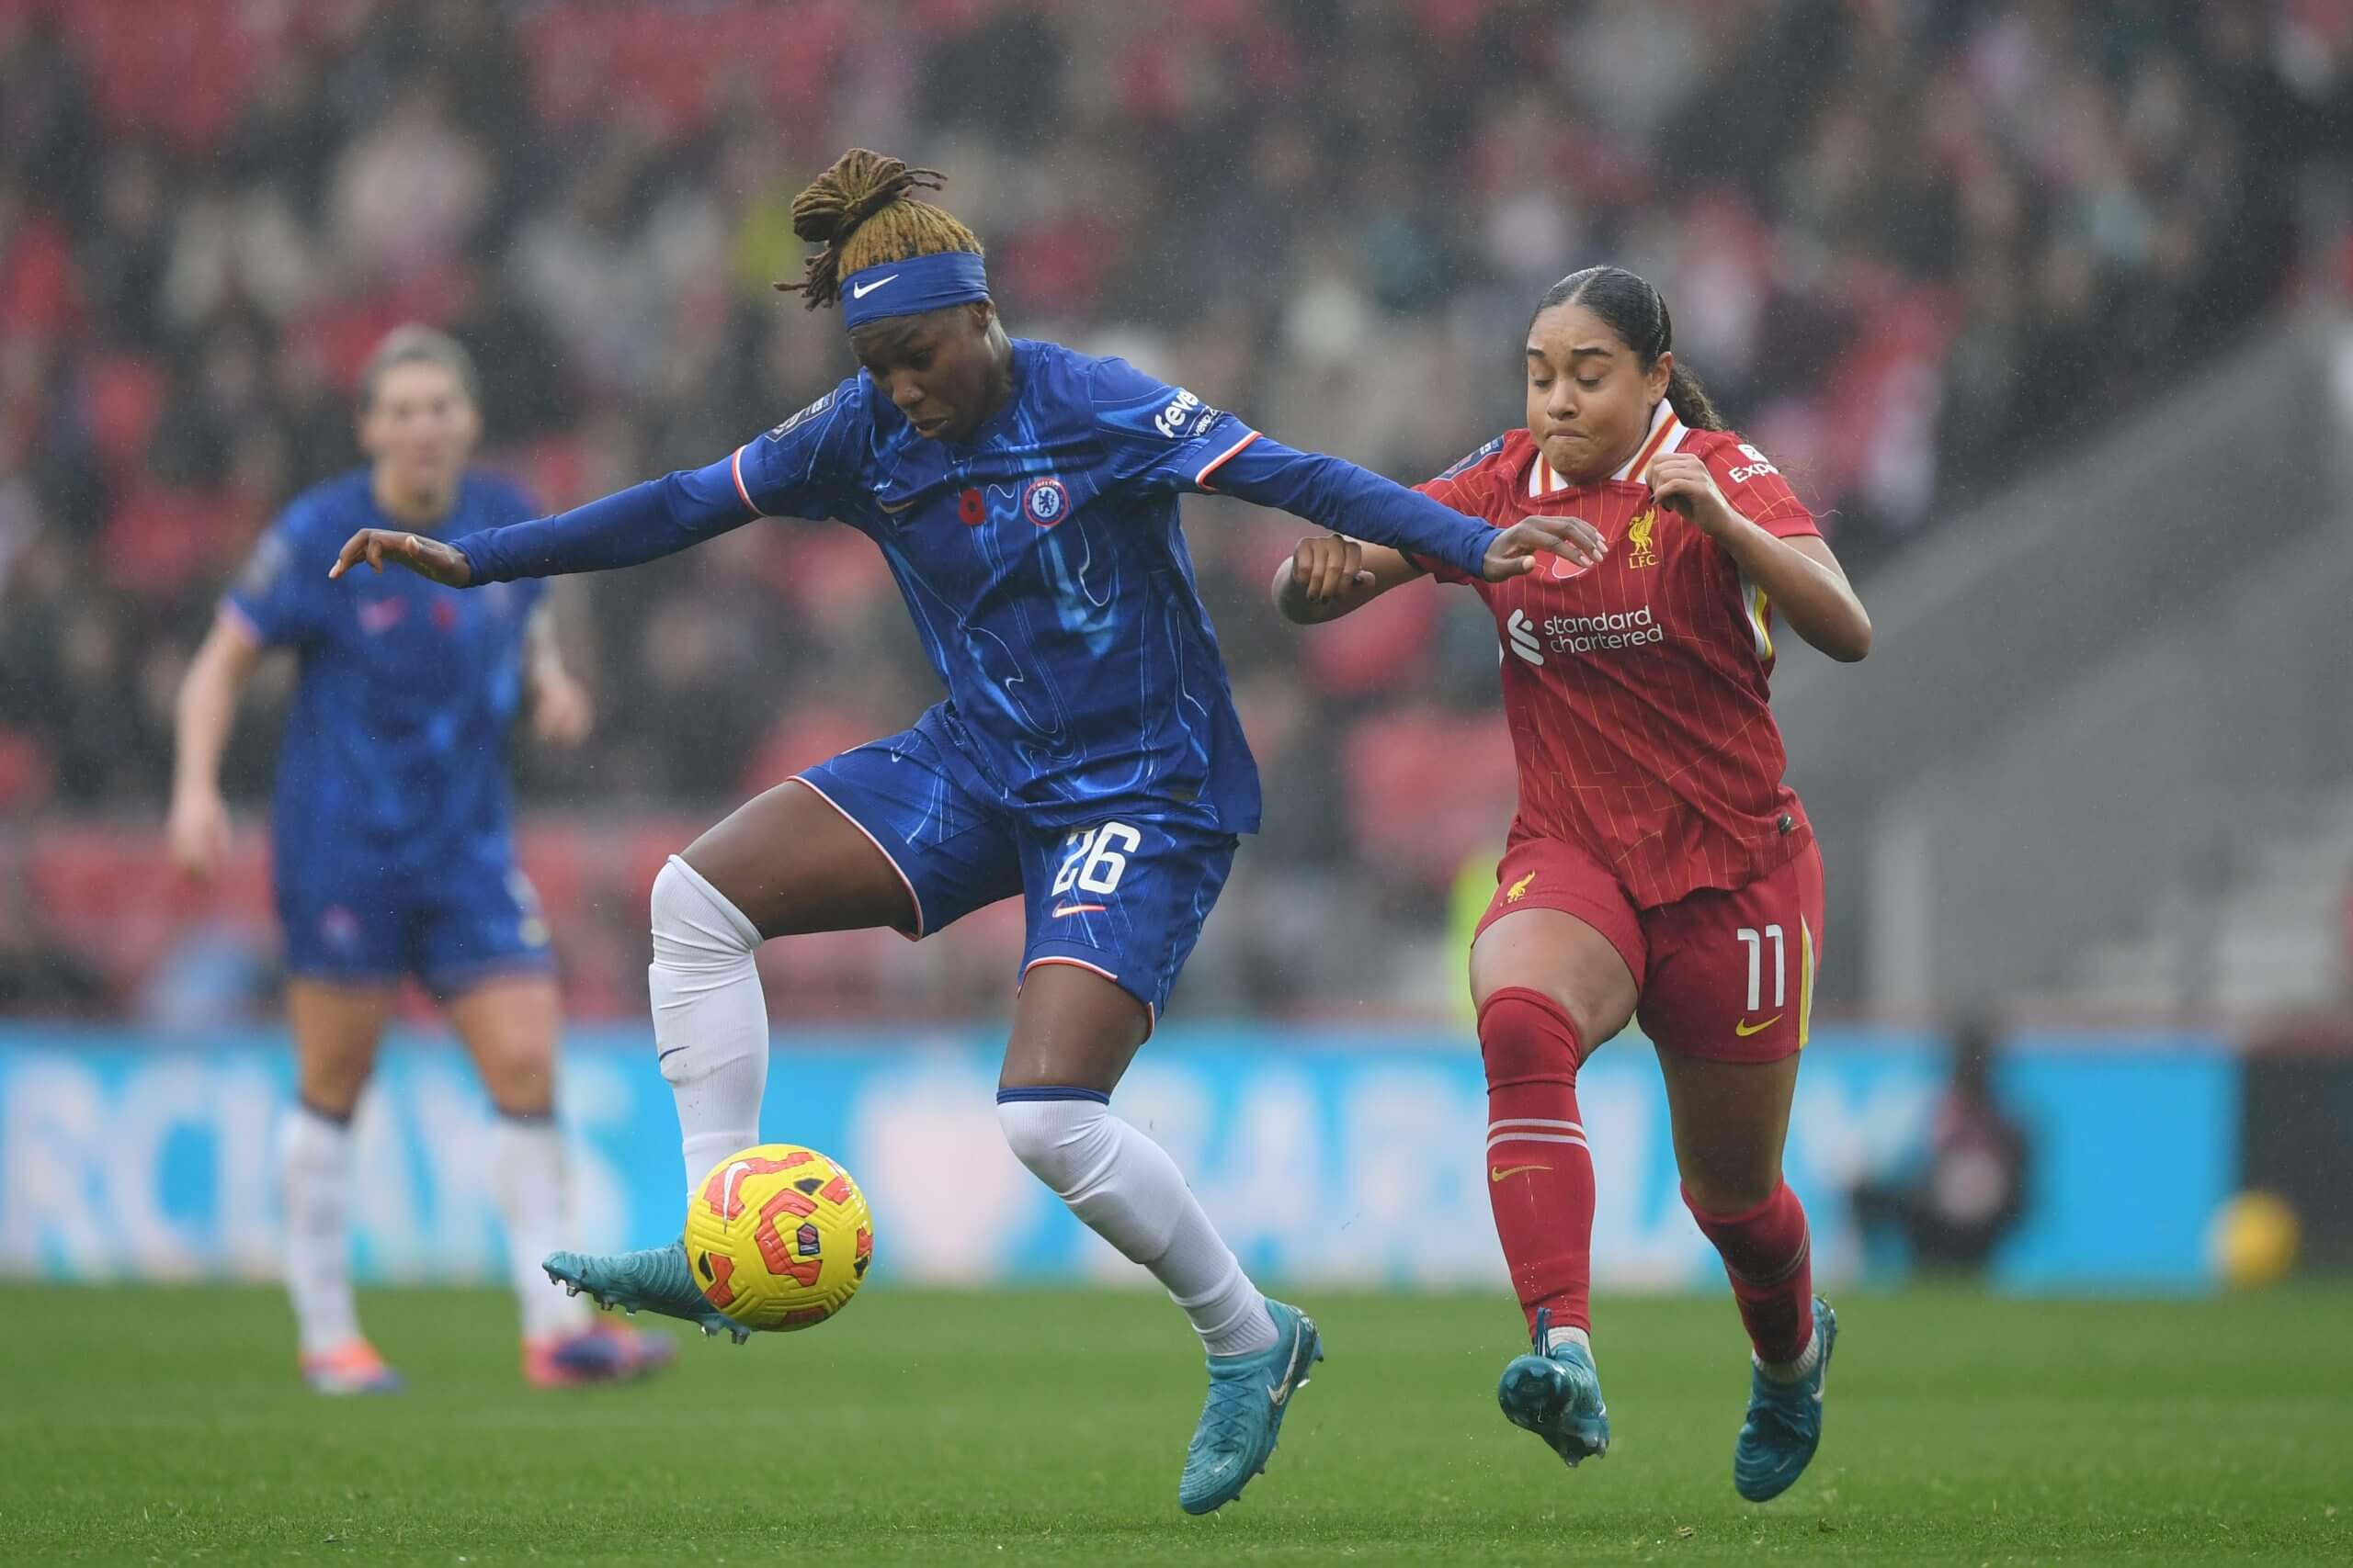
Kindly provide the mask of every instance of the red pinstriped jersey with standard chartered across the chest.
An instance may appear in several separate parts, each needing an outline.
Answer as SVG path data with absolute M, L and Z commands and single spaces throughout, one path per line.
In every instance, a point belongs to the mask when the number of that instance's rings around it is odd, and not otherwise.
M 1689 430 L 1661 402 L 1609 480 L 1569 484 L 1527 430 L 1489 442 L 1424 494 L 1504 529 L 1584 517 L 1609 555 L 1541 557 L 1508 583 L 1471 583 L 1501 637 L 1504 717 L 1520 762 L 1513 837 L 1567 839 L 1619 875 L 1638 907 L 1737 889 L 1814 837 L 1772 719 L 1772 604 L 1713 538 L 1659 505 L 1649 461 L 1689 451 L 1744 517 L 1819 534 L 1781 473 L 1739 435 Z

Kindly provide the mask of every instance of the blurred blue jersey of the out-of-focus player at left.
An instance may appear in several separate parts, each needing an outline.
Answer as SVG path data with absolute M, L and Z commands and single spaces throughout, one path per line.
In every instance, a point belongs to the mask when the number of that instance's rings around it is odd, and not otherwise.
M 433 534 L 529 515 L 513 484 L 471 473 Z M 400 879 L 504 863 L 506 733 L 544 585 L 466 592 L 409 571 L 329 583 L 327 567 L 358 529 L 407 529 L 376 505 L 367 470 L 296 496 L 224 599 L 224 614 L 261 644 L 299 658 L 273 799 L 278 879 Z

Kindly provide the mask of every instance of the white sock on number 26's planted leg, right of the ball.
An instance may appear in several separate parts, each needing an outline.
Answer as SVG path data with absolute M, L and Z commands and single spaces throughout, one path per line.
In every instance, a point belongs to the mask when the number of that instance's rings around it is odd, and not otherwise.
M 1193 1319 L 1202 1349 L 1240 1356 L 1275 1342 L 1266 1298 L 1209 1225 L 1167 1150 L 1092 1095 L 998 1100 L 998 1124 L 1014 1157 L 1071 1213 L 1167 1286 L 1169 1300 Z

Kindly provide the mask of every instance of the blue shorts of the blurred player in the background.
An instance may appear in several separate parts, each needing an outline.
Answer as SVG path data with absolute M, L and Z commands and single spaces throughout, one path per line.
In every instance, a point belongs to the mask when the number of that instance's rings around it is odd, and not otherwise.
M 539 893 L 511 863 L 454 863 L 431 877 L 287 877 L 280 851 L 278 919 L 287 973 L 334 985 L 416 976 L 452 997 L 508 973 L 548 973 Z

